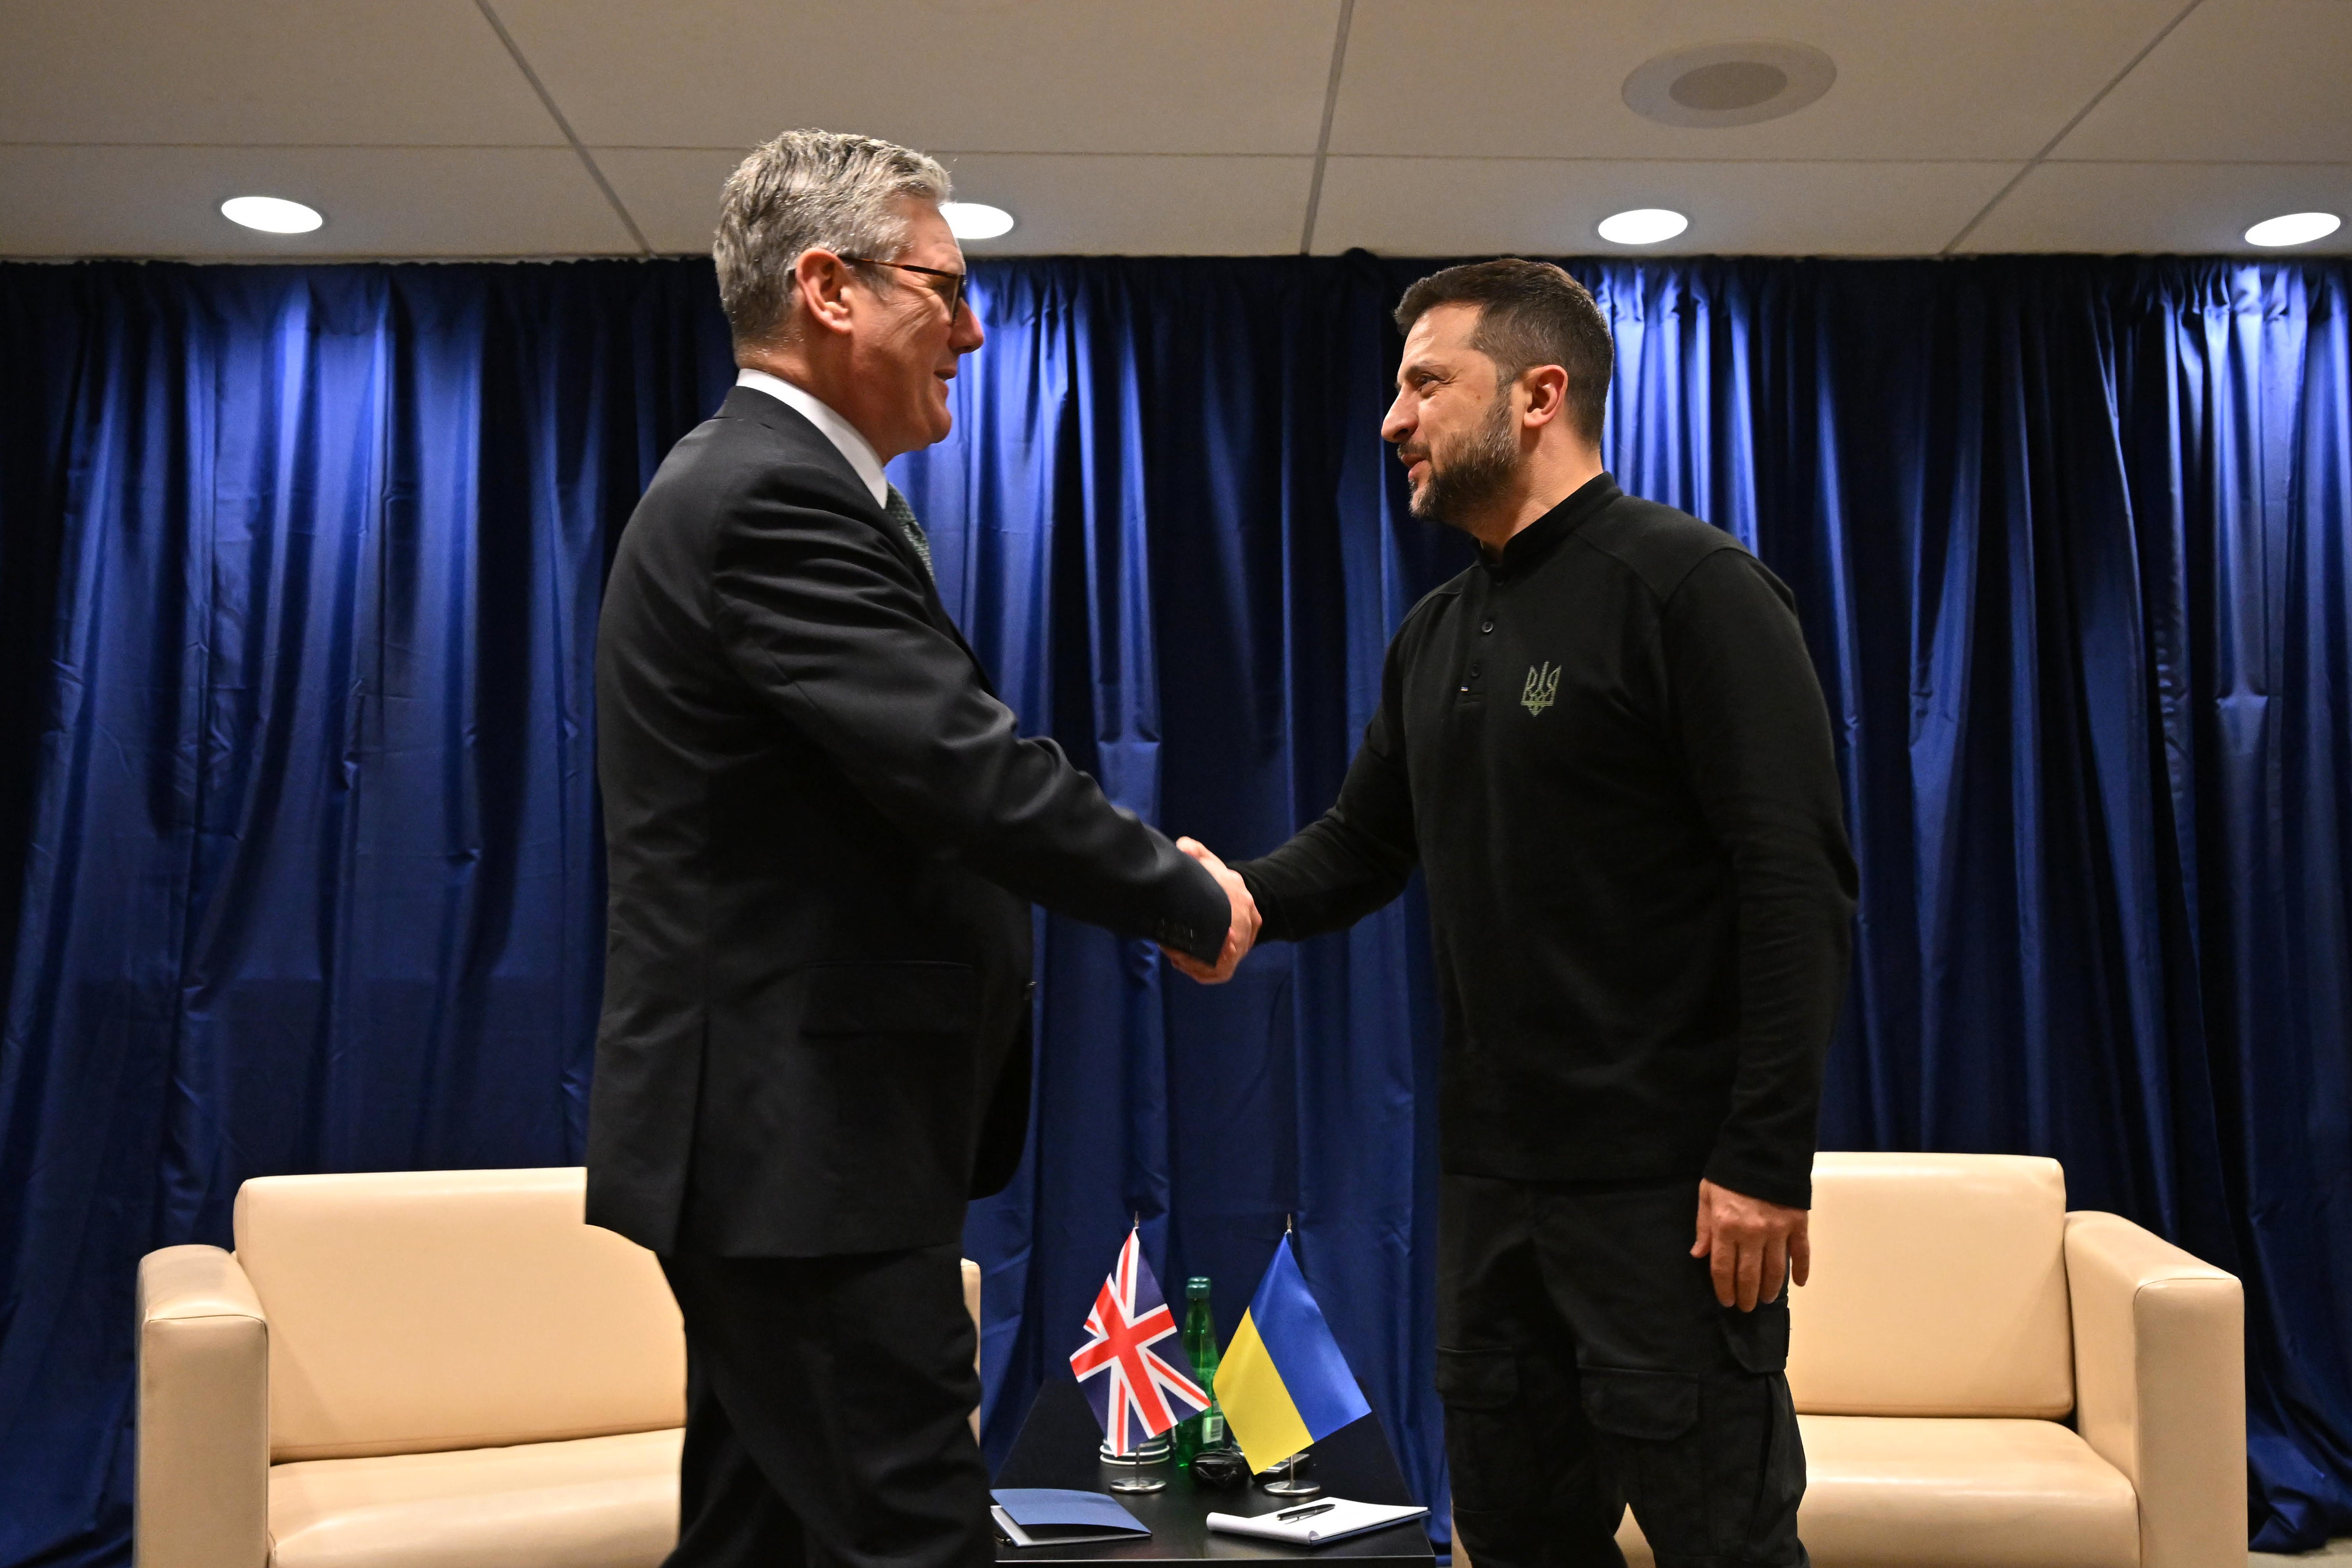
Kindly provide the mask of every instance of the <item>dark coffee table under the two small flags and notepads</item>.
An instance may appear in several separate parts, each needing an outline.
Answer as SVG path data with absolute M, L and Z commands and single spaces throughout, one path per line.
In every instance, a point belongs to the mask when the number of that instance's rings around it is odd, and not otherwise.
M 1096 1446 L 1103 1429 L 1094 1422 L 1094 1410 L 1080 1392 L 1068 1368 L 1056 1366 L 1047 1375 L 1037 1403 L 1004 1460 L 997 1486 L 1065 1486 L 1089 1493 L 1110 1493 L 1110 1481 L 1136 1474 L 1124 1465 L 1103 1465 Z M 1209 1514 L 1272 1514 L 1298 1507 L 1298 1497 L 1268 1497 L 1265 1488 L 1237 1486 L 1218 1490 L 1192 1486 L 1190 1472 L 1174 1465 L 1155 1465 L 1143 1474 L 1164 1476 L 1160 1493 L 1110 1493 L 1129 1514 L 1150 1528 L 1145 1540 L 1087 1540 L 1068 1547 L 997 1547 L 1000 1563 L 1237 1563 L 1237 1561 L 1296 1561 L 1296 1559 L 1348 1559 L 1348 1568 L 1367 1563 L 1392 1563 L 1395 1568 L 1430 1568 L 1428 1519 L 1406 1519 L 1385 1530 L 1367 1530 L 1336 1540 L 1329 1547 L 1287 1547 L 1254 1535 L 1221 1535 L 1209 1530 Z M 1411 1502 L 1404 1476 L 1397 1474 L 1397 1455 L 1388 1450 L 1388 1434 L 1381 1418 L 1367 1415 L 1352 1427 L 1341 1427 L 1315 1443 L 1310 1469 L 1322 1483 L 1324 1497 L 1348 1497 L 1350 1502 Z

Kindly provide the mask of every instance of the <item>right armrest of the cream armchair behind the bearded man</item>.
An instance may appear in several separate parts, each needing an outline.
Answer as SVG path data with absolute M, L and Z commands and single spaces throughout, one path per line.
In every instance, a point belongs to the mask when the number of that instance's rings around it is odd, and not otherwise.
M 2246 1300 L 2112 1213 L 2065 1218 L 2074 1425 L 2140 1495 L 2140 1568 L 2246 1554 Z

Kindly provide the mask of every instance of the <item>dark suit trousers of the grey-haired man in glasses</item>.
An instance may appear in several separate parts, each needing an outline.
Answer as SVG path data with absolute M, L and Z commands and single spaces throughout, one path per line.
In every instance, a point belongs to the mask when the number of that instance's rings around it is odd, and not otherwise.
M 981 1568 L 962 1248 L 661 1260 L 687 1321 L 668 1568 Z

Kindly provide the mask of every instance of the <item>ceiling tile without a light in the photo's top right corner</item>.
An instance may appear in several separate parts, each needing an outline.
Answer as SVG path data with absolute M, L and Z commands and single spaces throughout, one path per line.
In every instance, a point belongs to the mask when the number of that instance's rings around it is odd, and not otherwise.
M 2053 158 L 2352 160 L 2352 5 L 2204 0 Z

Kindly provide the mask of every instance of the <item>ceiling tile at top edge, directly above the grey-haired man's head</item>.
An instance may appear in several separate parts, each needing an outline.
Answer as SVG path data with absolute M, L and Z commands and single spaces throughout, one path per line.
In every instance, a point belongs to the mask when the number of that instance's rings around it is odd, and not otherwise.
M 1341 0 L 496 0 L 593 146 L 1312 153 Z

